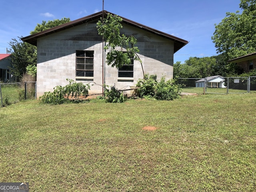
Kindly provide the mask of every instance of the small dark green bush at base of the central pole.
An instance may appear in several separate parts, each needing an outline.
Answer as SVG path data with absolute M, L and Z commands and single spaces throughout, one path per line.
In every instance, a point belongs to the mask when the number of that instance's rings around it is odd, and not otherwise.
M 126 101 L 126 97 L 123 95 L 122 91 L 115 88 L 115 86 L 111 86 L 110 90 L 105 86 L 104 96 L 106 101 L 109 103 L 122 103 Z

